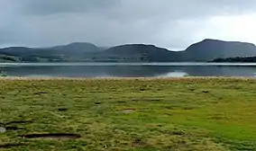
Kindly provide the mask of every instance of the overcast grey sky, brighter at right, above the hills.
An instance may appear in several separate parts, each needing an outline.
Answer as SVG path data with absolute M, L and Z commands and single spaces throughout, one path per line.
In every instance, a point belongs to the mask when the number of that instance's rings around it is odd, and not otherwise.
M 256 44 L 255 0 L 0 0 L 0 47 Z

